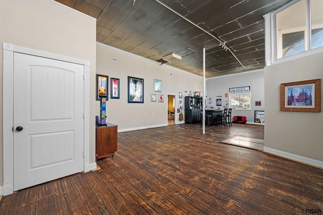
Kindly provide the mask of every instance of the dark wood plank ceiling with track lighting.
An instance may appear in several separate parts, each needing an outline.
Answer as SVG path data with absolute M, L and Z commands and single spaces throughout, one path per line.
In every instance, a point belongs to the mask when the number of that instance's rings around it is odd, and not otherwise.
M 98 42 L 206 78 L 262 69 L 263 15 L 291 0 L 56 0 L 97 19 Z M 162 4 L 164 5 L 162 5 Z M 230 50 L 203 30 L 217 37 Z M 236 58 L 232 55 L 232 53 Z M 163 61 L 176 53 L 182 60 Z M 242 65 L 244 67 L 242 67 Z

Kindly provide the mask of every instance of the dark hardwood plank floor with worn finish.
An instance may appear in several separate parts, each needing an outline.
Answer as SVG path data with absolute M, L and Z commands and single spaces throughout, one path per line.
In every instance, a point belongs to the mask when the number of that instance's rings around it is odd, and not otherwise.
M 220 143 L 263 126 L 172 125 L 119 133 L 114 157 L 4 196 L 0 214 L 302 214 L 323 211 L 323 170 Z M 308 210 L 309 211 L 309 210 Z M 309 212 L 308 212 L 309 213 Z

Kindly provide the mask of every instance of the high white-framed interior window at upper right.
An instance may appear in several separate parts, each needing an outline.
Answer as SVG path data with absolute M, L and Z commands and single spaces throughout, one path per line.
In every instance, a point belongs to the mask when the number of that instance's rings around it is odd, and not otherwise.
M 322 9 L 322 0 L 300 0 L 275 14 L 277 59 L 323 46 Z

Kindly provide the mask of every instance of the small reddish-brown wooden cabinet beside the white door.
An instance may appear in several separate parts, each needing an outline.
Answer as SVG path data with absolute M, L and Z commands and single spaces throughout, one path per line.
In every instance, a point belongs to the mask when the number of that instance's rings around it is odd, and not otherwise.
M 106 127 L 96 127 L 96 160 L 115 154 L 118 149 L 118 126 L 106 123 Z

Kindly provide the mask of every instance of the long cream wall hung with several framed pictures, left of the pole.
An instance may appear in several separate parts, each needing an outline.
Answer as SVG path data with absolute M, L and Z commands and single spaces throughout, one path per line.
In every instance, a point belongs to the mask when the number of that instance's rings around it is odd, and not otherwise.
M 119 62 L 112 61 L 112 58 L 117 58 Z M 176 95 L 179 108 L 179 92 L 183 93 L 182 105 L 184 105 L 184 96 L 187 96 L 190 90 L 202 89 L 200 76 L 166 64 L 159 66 L 155 61 L 101 43 L 97 43 L 96 47 L 96 73 L 108 75 L 109 79 L 111 77 L 120 79 L 120 99 L 110 98 L 109 81 L 109 101 L 106 103 L 107 122 L 118 125 L 119 132 L 166 126 L 167 94 Z M 144 103 L 128 103 L 128 76 L 144 79 Z M 162 81 L 161 92 L 153 91 L 154 79 Z M 151 93 L 163 94 L 165 101 L 150 101 Z M 96 115 L 99 115 L 99 104 L 100 102 L 96 101 Z M 178 113 L 175 118 L 179 118 Z

